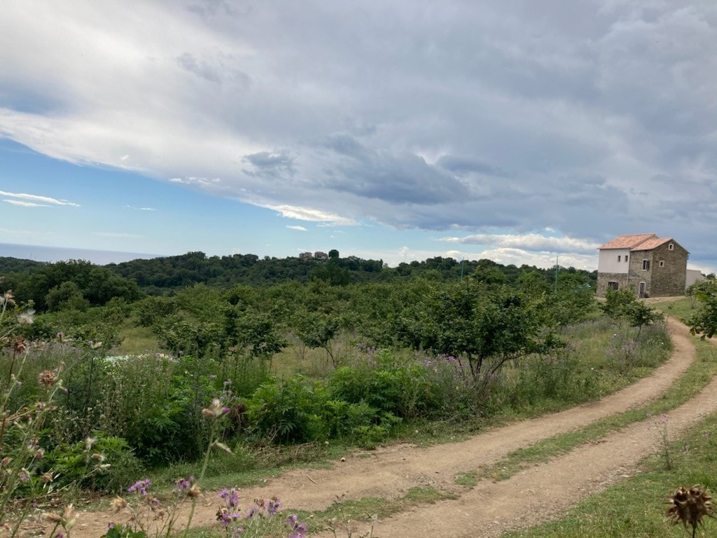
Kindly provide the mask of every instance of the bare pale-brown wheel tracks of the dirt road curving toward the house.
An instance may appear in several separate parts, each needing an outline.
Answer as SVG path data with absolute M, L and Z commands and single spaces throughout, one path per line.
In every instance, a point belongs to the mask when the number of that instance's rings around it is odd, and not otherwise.
M 640 458 L 657 448 L 655 430 L 647 428 L 652 424 L 650 420 L 635 423 L 607 435 L 599 443 L 583 445 L 499 483 L 481 481 L 467 490 L 456 486 L 455 478 L 495 463 L 518 448 L 642 406 L 658 397 L 695 357 L 685 326 L 673 320 L 669 324 L 675 345 L 670 360 L 650 377 L 598 402 L 523 420 L 460 443 L 430 448 L 393 445 L 361 455 L 347 455 L 346 461 L 337 461 L 326 470 L 295 469 L 260 488 L 242 490 L 242 499 L 251 501 L 276 495 L 282 499 L 284 510 L 290 512 L 293 509 L 326 509 L 341 496 L 344 499 L 401 496 L 414 486 L 434 486 L 459 495 L 457 500 L 419 506 L 376 522 L 374 536 L 381 538 L 414 538 L 417 534 L 445 538 L 492 537 L 505 529 L 557 517 L 579 497 L 630 476 Z M 703 415 L 715 410 L 717 381 L 711 382 L 690 401 L 689 406 L 670 412 L 670 435 L 679 435 Z M 561 494 L 564 488 L 579 492 L 579 495 L 564 496 Z M 193 524 L 212 524 L 217 506 L 216 495 L 207 493 L 197 507 Z M 513 511 L 513 506 L 521 506 L 519 514 Z M 110 520 L 104 513 L 82 514 L 72 537 L 98 537 Z M 357 529 L 359 533 L 366 530 Z M 323 536 L 333 537 L 333 534 Z

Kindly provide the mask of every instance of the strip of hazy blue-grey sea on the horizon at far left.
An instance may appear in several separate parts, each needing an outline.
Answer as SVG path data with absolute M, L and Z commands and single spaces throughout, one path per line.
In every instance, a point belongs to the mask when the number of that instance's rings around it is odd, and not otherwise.
M 95 265 L 122 263 L 131 260 L 161 258 L 158 254 L 124 253 L 116 250 L 94 250 L 90 248 L 47 247 L 41 245 L 18 245 L 0 243 L 0 258 L 17 258 L 42 263 L 67 260 L 85 260 Z

